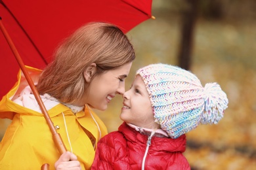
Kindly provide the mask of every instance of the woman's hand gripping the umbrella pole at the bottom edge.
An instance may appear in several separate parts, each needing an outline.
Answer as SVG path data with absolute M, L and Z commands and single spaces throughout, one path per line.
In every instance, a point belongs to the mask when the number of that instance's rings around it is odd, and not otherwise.
M 77 161 L 77 156 L 75 154 L 72 154 L 71 152 L 65 152 L 63 153 L 58 161 L 54 163 L 54 167 L 56 170 L 81 170 L 80 162 Z

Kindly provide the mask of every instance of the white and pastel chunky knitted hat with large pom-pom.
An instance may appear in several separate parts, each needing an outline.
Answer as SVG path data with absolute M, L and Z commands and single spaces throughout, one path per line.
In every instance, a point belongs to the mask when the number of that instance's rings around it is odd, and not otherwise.
M 217 83 L 203 88 L 196 75 L 177 66 L 152 64 L 136 73 L 146 84 L 155 121 L 175 139 L 198 124 L 217 124 L 228 106 Z

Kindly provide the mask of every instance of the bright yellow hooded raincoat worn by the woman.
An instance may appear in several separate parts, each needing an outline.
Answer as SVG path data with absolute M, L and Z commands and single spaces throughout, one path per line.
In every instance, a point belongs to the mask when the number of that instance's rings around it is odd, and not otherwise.
M 37 82 L 41 70 L 27 68 L 33 82 Z M 0 169 L 34 170 L 40 169 L 44 163 L 49 163 L 50 169 L 54 169 L 54 163 L 60 154 L 43 114 L 13 102 L 26 86 L 26 78 L 20 71 L 18 82 L 0 101 L 0 118 L 12 120 L 0 143 Z M 82 169 L 90 169 L 96 148 L 91 139 L 96 144 L 106 135 L 106 126 L 88 107 L 85 107 L 85 111 L 74 114 L 65 105 L 55 104 L 48 113 L 54 126 L 60 127 L 57 132 L 60 133 L 67 150 L 77 156 Z

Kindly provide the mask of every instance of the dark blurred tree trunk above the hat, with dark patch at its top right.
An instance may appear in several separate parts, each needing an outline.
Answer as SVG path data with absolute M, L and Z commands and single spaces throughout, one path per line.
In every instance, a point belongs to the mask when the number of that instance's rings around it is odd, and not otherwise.
M 196 20 L 199 16 L 202 18 L 211 18 L 221 20 L 226 15 L 224 7 L 230 0 L 184 0 L 181 7 L 181 42 L 178 54 L 179 66 L 189 70 L 192 63 L 192 49 L 194 42 L 194 29 Z M 185 7 L 185 8 L 184 8 Z

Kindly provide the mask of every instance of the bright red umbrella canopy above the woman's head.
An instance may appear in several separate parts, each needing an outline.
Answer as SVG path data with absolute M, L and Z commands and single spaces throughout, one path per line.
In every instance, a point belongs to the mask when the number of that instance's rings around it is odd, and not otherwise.
M 116 24 L 124 33 L 151 18 L 152 0 L 0 0 L 0 17 L 25 65 L 43 69 L 54 49 L 88 22 Z M 0 99 L 19 66 L 0 33 Z

